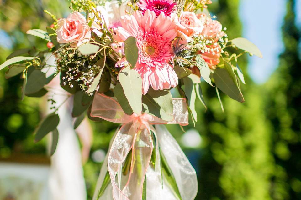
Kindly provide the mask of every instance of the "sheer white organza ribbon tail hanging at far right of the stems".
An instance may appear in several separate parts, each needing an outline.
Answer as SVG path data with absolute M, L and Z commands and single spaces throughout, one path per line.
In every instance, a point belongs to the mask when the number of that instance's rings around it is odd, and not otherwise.
M 161 153 L 171 168 L 182 200 L 193 200 L 198 192 L 198 180 L 194 168 L 164 125 L 156 125 L 156 132 Z

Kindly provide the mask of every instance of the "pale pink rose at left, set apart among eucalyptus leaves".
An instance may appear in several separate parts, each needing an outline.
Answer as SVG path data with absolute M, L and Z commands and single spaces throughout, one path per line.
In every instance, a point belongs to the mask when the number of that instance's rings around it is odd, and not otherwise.
M 57 22 L 57 42 L 61 44 L 72 43 L 71 47 L 77 47 L 89 42 L 91 38 L 90 27 L 87 20 L 79 12 L 69 14 L 67 19 L 63 18 Z

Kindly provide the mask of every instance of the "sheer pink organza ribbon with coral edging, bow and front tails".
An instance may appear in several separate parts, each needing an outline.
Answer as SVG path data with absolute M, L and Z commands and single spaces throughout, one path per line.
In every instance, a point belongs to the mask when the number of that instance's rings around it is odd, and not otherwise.
M 124 113 L 115 98 L 95 94 L 91 116 L 122 123 L 115 134 L 108 153 L 108 172 L 113 186 L 115 200 L 138 200 L 142 198 L 143 182 L 153 151 L 151 131 L 154 124 L 188 124 L 186 99 L 173 98 L 173 120 L 164 121 L 147 113 L 131 116 Z M 132 150 L 130 172 L 126 182 L 121 181 L 121 169 L 127 155 Z M 156 159 L 158 160 L 158 159 Z M 195 173 L 195 172 L 194 172 Z M 117 176 L 117 180 L 116 180 Z

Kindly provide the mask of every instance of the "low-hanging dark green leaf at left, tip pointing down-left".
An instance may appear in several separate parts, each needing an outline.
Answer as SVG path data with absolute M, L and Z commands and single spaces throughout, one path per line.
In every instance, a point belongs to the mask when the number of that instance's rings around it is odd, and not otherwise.
M 57 114 L 51 113 L 50 115 L 48 115 L 38 127 L 34 135 L 34 141 L 39 142 L 42 138 L 44 138 L 45 135 L 53 131 L 57 127 L 59 122 L 60 118 Z

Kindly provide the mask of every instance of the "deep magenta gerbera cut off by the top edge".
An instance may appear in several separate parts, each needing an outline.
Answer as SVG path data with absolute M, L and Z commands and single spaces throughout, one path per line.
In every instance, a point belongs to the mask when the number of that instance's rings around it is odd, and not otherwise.
M 137 3 L 137 5 L 143 14 L 149 9 L 154 11 L 156 16 L 159 16 L 161 12 L 165 16 L 170 16 L 175 11 L 177 3 L 172 0 L 140 0 L 140 3 Z

